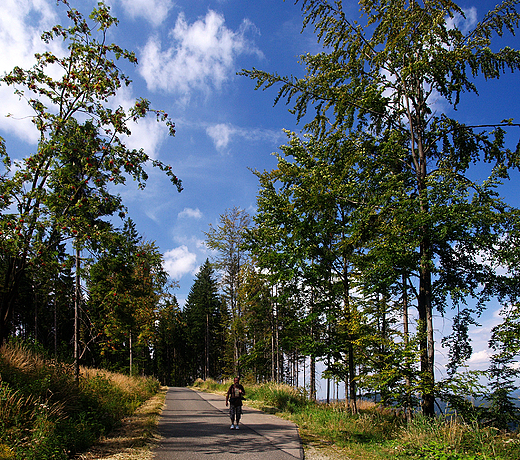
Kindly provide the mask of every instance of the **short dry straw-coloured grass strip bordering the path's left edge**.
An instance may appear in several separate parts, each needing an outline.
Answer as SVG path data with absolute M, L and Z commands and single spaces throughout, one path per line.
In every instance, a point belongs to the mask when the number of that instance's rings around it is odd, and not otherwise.
M 80 460 L 151 460 L 152 448 L 159 440 L 157 424 L 161 415 L 166 387 L 142 404 L 122 421 L 119 428 L 93 446 Z

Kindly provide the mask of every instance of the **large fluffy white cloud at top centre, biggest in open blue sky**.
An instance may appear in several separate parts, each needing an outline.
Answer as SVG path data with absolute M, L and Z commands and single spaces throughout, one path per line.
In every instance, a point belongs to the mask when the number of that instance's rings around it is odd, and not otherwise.
M 238 31 L 225 25 L 224 17 L 209 10 L 206 16 L 188 24 L 179 14 L 170 43 L 163 49 L 158 36 L 142 50 L 139 70 L 152 90 L 164 90 L 190 99 L 193 90 L 208 93 L 220 89 L 234 74 L 234 61 L 242 53 L 260 52 L 246 39 L 253 26 L 244 21 Z

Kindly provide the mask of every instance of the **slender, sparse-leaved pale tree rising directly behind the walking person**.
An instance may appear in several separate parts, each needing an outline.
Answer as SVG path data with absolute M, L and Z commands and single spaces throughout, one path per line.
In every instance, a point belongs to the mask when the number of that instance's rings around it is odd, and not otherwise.
M 251 218 L 244 210 L 234 207 L 220 216 L 217 227 L 210 224 L 205 232 L 206 245 L 216 252 L 214 266 L 220 275 L 220 286 L 230 314 L 230 331 L 233 345 L 233 372 L 240 373 L 239 359 L 243 356 L 245 339 L 242 330 L 243 308 L 238 301 L 242 268 L 248 263 L 245 251 L 245 231 Z

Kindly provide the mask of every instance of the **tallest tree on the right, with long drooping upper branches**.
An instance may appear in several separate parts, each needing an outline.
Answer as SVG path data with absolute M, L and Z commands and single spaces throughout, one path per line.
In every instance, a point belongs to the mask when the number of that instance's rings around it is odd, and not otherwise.
M 432 104 L 442 98 L 456 108 L 464 92 L 477 93 L 477 76 L 499 78 L 520 68 L 519 51 L 491 49 L 494 36 L 518 27 L 518 3 L 504 1 L 465 33 L 451 21 L 464 11 L 450 0 L 361 0 L 363 24 L 348 19 L 341 1 L 303 0 L 304 27 L 313 25 L 324 45 L 321 53 L 301 56 L 307 75 L 242 72 L 257 88 L 280 84 L 275 101 L 293 104 L 298 121 L 314 109 L 305 129 L 317 138 L 371 138 L 367 153 L 387 181 L 387 193 L 372 208 L 378 231 L 398 224 L 399 241 L 415 254 L 409 259 L 418 277 L 420 385 L 428 415 L 435 398 L 433 311 L 443 313 L 448 297 L 454 305 L 467 296 L 484 302 L 495 289 L 496 273 L 482 255 L 494 260 L 507 237 L 513 214 L 496 187 L 520 165 L 520 149 L 504 141 L 511 120 L 467 126 Z M 469 171 L 481 158 L 491 173 L 479 184 Z M 373 249 L 382 248 L 376 242 Z

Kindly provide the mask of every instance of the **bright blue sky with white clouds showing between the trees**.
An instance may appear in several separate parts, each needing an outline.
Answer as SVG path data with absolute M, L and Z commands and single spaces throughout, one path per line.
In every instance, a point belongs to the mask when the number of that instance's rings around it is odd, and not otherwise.
M 88 14 L 94 2 L 70 0 Z M 120 24 L 110 41 L 134 50 L 139 65 L 125 66 L 133 80 L 114 101 L 129 106 L 137 97 L 152 101 L 175 121 L 177 135 L 168 137 L 155 121 L 133 127 L 131 147 L 143 147 L 153 157 L 172 165 L 182 179 L 177 193 L 159 172 L 151 172 L 147 188 L 132 183 L 119 190 L 130 217 L 146 240 L 155 241 L 165 257 L 165 268 L 180 283 L 180 303 L 189 292 L 197 268 L 210 256 L 203 231 L 217 224 L 226 209 L 239 206 L 254 214 L 258 184 L 252 169 L 272 169 L 286 137 L 282 129 L 299 130 L 281 103 L 273 107 L 276 90 L 254 91 L 254 82 L 236 75 L 257 67 L 279 74 L 303 75 L 298 55 L 318 50 L 311 30 L 300 34 L 300 4 L 283 0 L 111 0 L 107 2 Z M 470 0 L 460 5 L 469 21 L 482 19 L 495 1 Z M 344 2 L 352 18 L 359 16 L 356 2 Z M 41 51 L 38 37 L 54 24 L 65 24 L 64 8 L 54 0 L 2 0 L 0 2 L 0 72 L 15 65 L 29 67 Z M 500 44 L 520 45 L 518 37 Z M 59 44 L 54 44 L 59 52 Z M 479 97 L 463 99 L 461 121 L 495 123 L 520 120 L 518 75 L 480 85 Z M 37 133 L 24 118 L 29 109 L 0 87 L 0 135 L 13 157 L 34 149 Z M 440 104 L 439 109 L 443 106 Z M 11 113 L 13 117 L 3 115 Z M 520 137 L 511 131 L 512 146 Z M 476 175 L 481 174 L 479 170 Z M 518 179 L 518 175 L 516 176 Z M 518 182 L 505 184 L 503 193 L 520 206 Z M 447 321 L 447 320 L 446 320 Z M 496 323 L 491 309 L 475 338 L 481 344 L 477 361 L 486 359 L 486 331 Z M 449 329 L 445 320 L 439 330 Z M 481 337 L 481 338 L 479 338 Z M 478 353 L 482 353 L 480 358 Z

